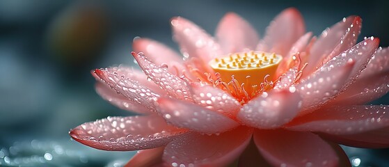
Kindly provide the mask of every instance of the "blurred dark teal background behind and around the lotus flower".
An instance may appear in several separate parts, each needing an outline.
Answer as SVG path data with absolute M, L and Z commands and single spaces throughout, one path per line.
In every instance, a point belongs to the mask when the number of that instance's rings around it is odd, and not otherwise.
M 214 34 L 232 11 L 263 37 L 271 19 L 291 6 L 315 35 L 360 15 L 360 39 L 374 35 L 382 47 L 389 45 L 388 1 L 0 1 L 0 166 L 121 166 L 134 152 L 95 150 L 68 136 L 84 122 L 132 114 L 95 93 L 90 70 L 134 65 L 136 36 L 177 49 L 170 31 L 174 16 Z M 388 100 L 386 95 L 374 104 Z M 354 166 L 389 163 L 388 150 L 345 149 Z

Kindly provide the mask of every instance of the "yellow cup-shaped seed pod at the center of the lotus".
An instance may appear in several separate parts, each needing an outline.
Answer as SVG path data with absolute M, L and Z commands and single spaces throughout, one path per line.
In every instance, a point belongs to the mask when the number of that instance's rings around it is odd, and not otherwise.
M 283 56 L 261 51 L 250 51 L 237 54 L 230 54 L 221 58 L 214 58 L 209 61 L 212 69 L 221 74 L 222 81 L 231 81 L 232 76 L 240 84 L 244 83 L 247 93 L 253 92 L 253 87 L 264 81 L 268 74 L 273 79 L 278 64 Z

